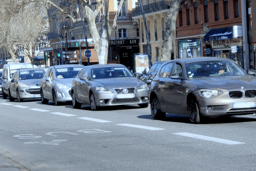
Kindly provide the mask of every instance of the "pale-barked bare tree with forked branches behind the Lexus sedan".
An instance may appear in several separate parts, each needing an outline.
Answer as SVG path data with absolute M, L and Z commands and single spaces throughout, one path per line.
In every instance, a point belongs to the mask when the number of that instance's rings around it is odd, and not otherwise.
M 36 1 L 36 0 L 34 0 L 34 1 Z M 75 18 L 74 16 L 70 15 L 65 10 L 65 8 L 66 8 L 65 6 L 60 6 L 59 4 L 57 4 L 58 1 L 45 0 L 46 3 L 50 3 L 52 7 L 57 8 L 58 11 L 60 12 L 60 14 L 62 15 L 62 17 L 69 17 L 73 23 L 79 23 L 81 21 L 83 22 L 83 20 L 86 20 L 86 22 L 88 24 L 88 28 L 90 30 L 90 34 L 94 41 L 94 45 L 95 45 L 94 49 L 97 53 L 99 63 L 100 64 L 107 63 L 110 35 L 117 28 L 117 17 L 120 13 L 120 9 L 123 4 L 123 0 L 120 1 L 120 5 L 116 12 L 112 26 L 110 26 L 110 11 L 109 11 L 110 2 L 109 2 L 109 0 L 105 0 L 105 1 L 103 1 L 103 3 L 101 0 L 95 0 L 96 5 L 95 5 L 94 10 L 92 10 L 90 7 L 87 6 L 88 2 L 86 0 L 77 0 L 77 1 L 80 3 L 80 6 L 82 6 L 82 8 L 83 8 L 82 11 L 85 13 L 85 15 L 82 16 L 83 17 L 82 19 L 80 17 Z M 72 1 L 69 1 L 69 3 L 76 4 L 76 1 L 72 0 Z M 75 8 L 76 8 L 77 14 L 79 15 L 79 13 L 78 13 L 79 10 L 78 10 L 77 6 Z M 104 26 L 103 26 L 103 30 L 101 32 L 102 35 L 100 36 L 100 33 L 98 32 L 97 27 L 96 27 L 95 20 L 102 8 L 104 9 Z

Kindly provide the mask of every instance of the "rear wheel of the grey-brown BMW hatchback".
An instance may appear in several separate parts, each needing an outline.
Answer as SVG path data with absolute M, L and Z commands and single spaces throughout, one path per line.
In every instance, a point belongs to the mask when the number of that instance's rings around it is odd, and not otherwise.
M 153 96 L 152 99 L 150 100 L 150 109 L 151 109 L 151 115 L 153 116 L 154 119 L 161 120 L 165 118 L 165 113 L 161 112 L 159 107 L 159 101 L 155 96 Z

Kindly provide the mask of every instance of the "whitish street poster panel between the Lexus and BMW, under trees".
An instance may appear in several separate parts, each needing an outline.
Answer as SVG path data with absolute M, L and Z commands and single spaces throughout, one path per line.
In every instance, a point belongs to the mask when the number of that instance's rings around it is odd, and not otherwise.
M 142 73 L 146 68 L 148 72 L 148 54 L 134 54 L 135 72 Z

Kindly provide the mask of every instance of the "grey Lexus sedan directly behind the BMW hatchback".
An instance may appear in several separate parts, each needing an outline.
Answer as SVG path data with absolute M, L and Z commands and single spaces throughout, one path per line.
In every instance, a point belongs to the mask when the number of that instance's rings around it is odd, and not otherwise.
M 100 106 L 138 104 L 146 108 L 149 102 L 147 84 L 137 79 L 121 64 L 84 67 L 72 81 L 72 104 L 90 104 L 92 110 Z

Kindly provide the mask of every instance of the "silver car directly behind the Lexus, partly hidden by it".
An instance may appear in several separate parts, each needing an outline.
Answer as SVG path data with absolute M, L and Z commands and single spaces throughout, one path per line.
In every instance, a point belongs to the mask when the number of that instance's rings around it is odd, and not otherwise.
M 71 81 L 76 77 L 83 65 L 59 65 L 48 68 L 40 82 L 41 101 L 47 104 L 53 100 L 54 105 L 62 101 L 71 101 Z

